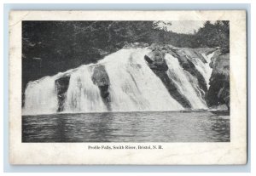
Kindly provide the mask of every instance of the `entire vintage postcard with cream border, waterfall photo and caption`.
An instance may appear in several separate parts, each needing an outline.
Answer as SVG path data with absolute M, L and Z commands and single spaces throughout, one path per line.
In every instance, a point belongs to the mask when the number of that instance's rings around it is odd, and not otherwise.
M 11 164 L 246 164 L 242 10 L 11 11 Z

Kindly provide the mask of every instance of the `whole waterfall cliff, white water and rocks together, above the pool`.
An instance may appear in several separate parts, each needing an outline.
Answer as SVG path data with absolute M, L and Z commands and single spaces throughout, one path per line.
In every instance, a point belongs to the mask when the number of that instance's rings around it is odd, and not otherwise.
M 95 64 L 29 82 L 24 108 L 40 113 L 229 109 L 229 65 L 230 54 L 218 48 L 127 43 Z M 40 85 L 46 86 L 42 96 Z

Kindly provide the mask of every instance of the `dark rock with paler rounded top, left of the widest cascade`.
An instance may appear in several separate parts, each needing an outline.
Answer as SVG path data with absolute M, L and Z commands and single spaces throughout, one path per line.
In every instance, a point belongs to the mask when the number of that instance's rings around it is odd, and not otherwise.
M 108 77 L 108 73 L 106 72 L 105 67 L 103 65 L 97 65 L 94 68 L 94 72 L 92 74 L 91 80 L 100 89 L 103 102 L 107 106 L 108 111 L 110 111 L 111 110 L 111 105 L 110 105 L 111 99 L 110 99 L 110 95 L 109 95 L 109 91 L 108 91 L 109 77 Z

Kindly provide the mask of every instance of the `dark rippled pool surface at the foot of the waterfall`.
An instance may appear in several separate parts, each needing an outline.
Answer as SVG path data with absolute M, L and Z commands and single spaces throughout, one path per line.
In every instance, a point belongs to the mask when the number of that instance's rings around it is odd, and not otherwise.
M 22 116 L 22 142 L 229 142 L 230 116 L 209 111 Z

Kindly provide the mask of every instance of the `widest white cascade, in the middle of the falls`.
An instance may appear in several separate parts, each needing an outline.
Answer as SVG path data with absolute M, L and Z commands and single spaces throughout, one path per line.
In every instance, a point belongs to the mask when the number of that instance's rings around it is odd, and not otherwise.
M 113 111 L 182 110 L 144 60 L 146 48 L 121 49 L 100 63 L 110 79 Z

